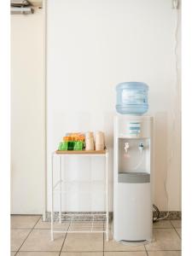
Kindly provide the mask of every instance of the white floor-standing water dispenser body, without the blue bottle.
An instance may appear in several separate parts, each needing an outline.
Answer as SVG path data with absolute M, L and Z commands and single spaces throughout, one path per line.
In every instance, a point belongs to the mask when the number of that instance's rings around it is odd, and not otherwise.
M 152 135 L 150 116 L 114 118 L 113 238 L 152 240 Z

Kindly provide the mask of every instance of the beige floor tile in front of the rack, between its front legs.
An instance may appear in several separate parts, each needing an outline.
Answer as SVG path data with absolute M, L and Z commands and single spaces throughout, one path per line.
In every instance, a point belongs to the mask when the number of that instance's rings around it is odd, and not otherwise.
M 103 234 L 67 234 L 62 251 L 88 252 L 101 251 L 103 248 Z

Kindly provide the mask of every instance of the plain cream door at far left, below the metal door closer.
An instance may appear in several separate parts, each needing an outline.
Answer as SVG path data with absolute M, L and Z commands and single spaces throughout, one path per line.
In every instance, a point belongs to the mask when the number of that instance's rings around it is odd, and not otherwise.
M 43 12 L 11 15 L 11 212 L 44 210 Z

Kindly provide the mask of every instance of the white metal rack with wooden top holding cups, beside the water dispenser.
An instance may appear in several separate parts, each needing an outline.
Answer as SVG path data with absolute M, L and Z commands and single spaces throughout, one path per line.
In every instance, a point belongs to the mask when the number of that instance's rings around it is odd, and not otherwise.
M 67 182 L 62 180 L 63 166 L 61 158 L 67 155 L 79 155 L 80 157 L 105 157 L 105 194 L 106 212 L 62 212 L 62 195 L 68 193 L 67 189 L 62 189 L 62 183 L 76 185 L 79 181 Z M 59 157 L 59 180 L 54 183 L 54 158 Z M 100 151 L 55 151 L 51 158 L 51 240 L 54 240 L 54 233 L 106 233 L 108 241 L 108 150 Z M 89 182 L 87 182 L 89 183 Z M 59 211 L 54 211 L 54 195 L 59 194 Z

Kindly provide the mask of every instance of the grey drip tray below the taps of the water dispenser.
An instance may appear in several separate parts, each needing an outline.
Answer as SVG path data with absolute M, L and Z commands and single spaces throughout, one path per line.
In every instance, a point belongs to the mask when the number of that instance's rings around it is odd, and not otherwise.
M 150 183 L 148 172 L 119 172 L 119 183 Z

